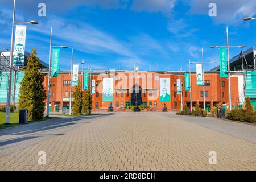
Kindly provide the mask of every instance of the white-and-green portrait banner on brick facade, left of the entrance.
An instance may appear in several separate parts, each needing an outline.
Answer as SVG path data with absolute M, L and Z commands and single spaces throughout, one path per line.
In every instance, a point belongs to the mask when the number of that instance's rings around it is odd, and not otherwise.
M 113 78 L 103 78 L 103 101 L 113 101 Z

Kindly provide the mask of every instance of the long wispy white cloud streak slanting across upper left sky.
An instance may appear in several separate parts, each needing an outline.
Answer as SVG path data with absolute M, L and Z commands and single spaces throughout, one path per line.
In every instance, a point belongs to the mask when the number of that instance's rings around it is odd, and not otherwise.
M 65 41 L 62 44 L 71 44 L 79 51 L 94 54 L 113 52 L 122 56 L 135 57 L 133 52 L 113 36 L 86 23 L 75 26 L 71 22 L 53 16 L 47 22 L 31 27 L 30 30 L 48 35 L 51 26 L 53 26 L 53 38 L 61 39 Z

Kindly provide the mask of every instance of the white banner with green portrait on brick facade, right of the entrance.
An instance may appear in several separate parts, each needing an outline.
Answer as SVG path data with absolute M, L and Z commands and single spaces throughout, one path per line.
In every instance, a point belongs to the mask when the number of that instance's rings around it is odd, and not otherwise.
M 160 102 L 170 102 L 170 78 L 160 78 Z

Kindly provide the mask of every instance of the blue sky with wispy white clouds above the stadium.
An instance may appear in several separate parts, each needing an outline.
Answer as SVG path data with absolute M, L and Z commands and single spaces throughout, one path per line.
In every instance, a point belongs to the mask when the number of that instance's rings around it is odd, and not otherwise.
M 46 17 L 38 16 L 38 3 L 46 3 Z M 217 5 L 217 17 L 208 15 L 209 3 Z M 0 2 L 0 46 L 10 46 L 13 1 Z M 74 48 L 74 61 L 86 68 L 141 70 L 188 70 L 188 60 L 201 60 L 204 47 L 206 69 L 218 65 L 218 49 L 226 44 L 256 46 L 256 0 L 16 0 L 16 20 L 37 20 L 28 25 L 26 51 L 38 49 L 48 63 L 49 32 L 53 45 Z M 241 48 L 230 49 L 230 56 Z M 70 69 L 71 50 L 61 50 L 60 69 Z M 195 68 L 192 68 L 195 69 Z

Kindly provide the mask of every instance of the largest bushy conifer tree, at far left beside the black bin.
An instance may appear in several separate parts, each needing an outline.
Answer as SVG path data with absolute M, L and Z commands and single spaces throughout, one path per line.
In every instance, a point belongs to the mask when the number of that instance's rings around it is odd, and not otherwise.
M 40 72 L 40 61 L 36 57 L 36 48 L 32 49 L 28 57 L 27 67 L 23 69 L 24 78 L 20 83 L 19 109 L 28 109 L 28 118 L 40 120 L 44 117 L 46 90 L 44 76 Z

